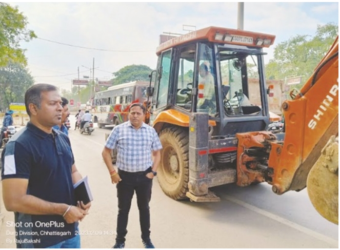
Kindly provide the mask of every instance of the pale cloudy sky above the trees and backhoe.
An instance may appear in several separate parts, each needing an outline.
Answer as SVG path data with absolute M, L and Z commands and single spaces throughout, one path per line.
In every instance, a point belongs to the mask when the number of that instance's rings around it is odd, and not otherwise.
M 35 83 L 70 90 L 83 76 L 99 81 L 128 65 L 155 69 L 159 35 L 209 26 L 237 29 L 237 2 L 188 3 L 27 3 L 17 6 L 37 39 L 21 43 Z M 265 62 L 277 44 L 299 35 L 314 36 L 317 25 L 338 25 L 338 2 L 244 3 L 244 30 L 276 35 L 264 49 Z M 83 47 L 83 48 L 81 48 Z

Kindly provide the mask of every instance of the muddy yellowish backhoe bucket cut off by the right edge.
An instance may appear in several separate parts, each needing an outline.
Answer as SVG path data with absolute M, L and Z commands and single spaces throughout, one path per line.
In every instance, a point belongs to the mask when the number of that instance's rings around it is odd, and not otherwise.
M 307 191 L 313 206 L 327 220 L 338 224 L 338 138 L 332 136 L 307 178 Z

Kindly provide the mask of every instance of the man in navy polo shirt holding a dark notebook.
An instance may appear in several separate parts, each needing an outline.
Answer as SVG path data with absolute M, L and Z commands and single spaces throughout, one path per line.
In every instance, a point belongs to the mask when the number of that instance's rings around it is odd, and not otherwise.
M 55 86 L 36 84 L 25 93 L 30 122 L 2 153 L 3 199 L 14 211 L 18 248 L 79 248 L 77 222 L 91 203 L 77 204 L 73 184 L 82 179 L 61 122 L 62 99 Z

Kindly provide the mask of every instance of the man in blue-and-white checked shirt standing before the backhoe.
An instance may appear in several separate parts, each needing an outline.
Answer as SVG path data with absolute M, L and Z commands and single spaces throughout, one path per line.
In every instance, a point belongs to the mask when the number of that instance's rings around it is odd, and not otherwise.
M 117 184 L 118 216 L 117 236 L 113 248 L 124 248 L 128 216 L 134 192 L 137 196 L 142 242 L 145 248 L 155 248 L 150 240 L 150 208 L 152 179 L 161 161 L 162 144 L 157 132 L 143 122 L 145 107 L 132 104 L 129 121 L 115 126 L 102 152 L 110 172 L 111 182 Z M 113 168 L 111 150 L 117 149 L 116 166 Z M 153 160 L 151 159 L 153 156 Z

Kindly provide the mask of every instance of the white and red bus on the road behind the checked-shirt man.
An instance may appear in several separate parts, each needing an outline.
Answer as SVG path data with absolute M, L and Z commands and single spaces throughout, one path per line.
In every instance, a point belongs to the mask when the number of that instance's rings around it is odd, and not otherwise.
M 98 128 L 128 121 L 131 104 L 143 103 L 147 100 L 146 88 L 149 84 L 145 81 L 134 81 L 111 86 L 105 91 L 95 93 L 92 115 Z

